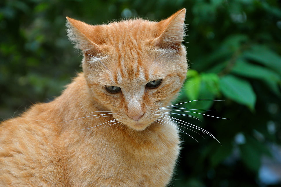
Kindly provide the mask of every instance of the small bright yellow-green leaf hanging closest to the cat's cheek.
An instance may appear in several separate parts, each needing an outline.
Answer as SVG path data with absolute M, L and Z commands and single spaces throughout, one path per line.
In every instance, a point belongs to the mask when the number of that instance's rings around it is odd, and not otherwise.
M 194 76 L 186 81 L 185 93 L 189 99 L 191 100 L 198 99 L 200 83 L 201 83 L 200 76 Z

